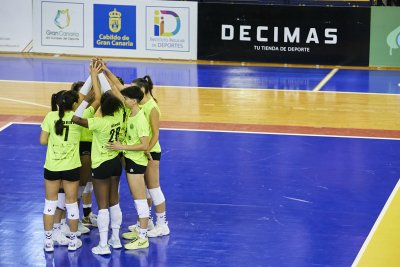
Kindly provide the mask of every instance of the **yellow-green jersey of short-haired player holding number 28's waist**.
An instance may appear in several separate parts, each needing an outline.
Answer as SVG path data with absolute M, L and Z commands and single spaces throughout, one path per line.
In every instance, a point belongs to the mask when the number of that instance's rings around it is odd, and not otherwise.
M 143 110 L 140 110 L 135 116 L 128 117 L 126 129 L 126 145 L 140 144 L 140 138 L 149 136 L 149 123 L 144 116 Z M 148 159 L 144 151 L 125 150 L 124 156 L 136 164 L 147 166 Z

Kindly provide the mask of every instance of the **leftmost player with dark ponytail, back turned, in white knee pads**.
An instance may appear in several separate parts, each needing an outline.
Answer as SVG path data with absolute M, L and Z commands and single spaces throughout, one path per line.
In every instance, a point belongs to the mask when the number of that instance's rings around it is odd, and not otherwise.
M 49 112 L 41 124 L 40 144 L 47 145 L 44 164 L 46 196 L 43 211 L 46 252 L 54 251 L 52 229 L 61 184 L 65 191 L 68 223 L 71 230 L 68 250 L 74 251 L 82 246 L 82 241 L 77 238 L 81 127 L 71 122 L 78 98 L 78 94 L 73 91 L 61 91 L 53 95 L 52 109 L 54 110 L 57 105 L 58 111 Z

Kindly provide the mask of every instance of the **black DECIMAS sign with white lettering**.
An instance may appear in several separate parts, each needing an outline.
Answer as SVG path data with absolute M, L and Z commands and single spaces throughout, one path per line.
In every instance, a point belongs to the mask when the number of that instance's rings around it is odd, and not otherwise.
M 369 8 L 199 3 L 198 18 L 198 59 L 369 65 Z

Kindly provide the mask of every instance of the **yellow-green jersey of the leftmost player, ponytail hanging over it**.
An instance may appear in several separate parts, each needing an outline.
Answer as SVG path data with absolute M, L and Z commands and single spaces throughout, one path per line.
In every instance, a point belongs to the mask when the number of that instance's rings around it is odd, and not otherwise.
M 71 121 L 73 111 L 67 111 L 62 118 L 63 134 L 57 135 L 55 123 L 58 111 L 47 113 L 42 122 L 42 130 L 49 133 L 44 167 L 49 171 L 67 171 L 81 166 L 79 141 L 82 127 Z

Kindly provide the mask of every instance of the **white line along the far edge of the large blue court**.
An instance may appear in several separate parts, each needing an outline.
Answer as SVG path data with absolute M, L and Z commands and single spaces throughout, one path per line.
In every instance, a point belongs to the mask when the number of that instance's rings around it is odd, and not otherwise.
M 26 125 L 40 125 L 39 122 L 18 122 L 12 121 L 8 124 L 26 124 Z M 7 125 L 8 125 L 7 124 Z M 8 125 L 8 126 L 10 126 Z M 7 127 L 8 127 L 7 126 Z M 5 127 L 5 126 L 3 126 Z M 245 132 L 233 130 L 210 130 L 210 129 L 183 129 L 183 128 L 160 128 L 163 131 L 181 131 L 181 132 L 213 132 L 213 133 L 232 133 L 232 134 L 258 134 L 258 135 L 285 135 L 285 136 L 304 136 L 304 137 L 327 137 L 327 138 L 347 138 L 347 139 L 373 139 L 373 140 L 390 140 L 398 141 L 400 138 L 388 137 L 368 137 L 368 136 L 351 136 L 351 135 L 318 135 L 318 134 L 297 134 L 297 133 L 273 133 L 273 132 Z

